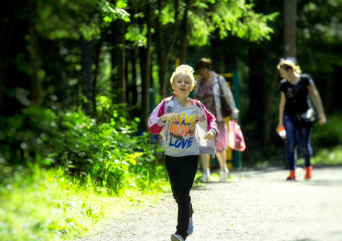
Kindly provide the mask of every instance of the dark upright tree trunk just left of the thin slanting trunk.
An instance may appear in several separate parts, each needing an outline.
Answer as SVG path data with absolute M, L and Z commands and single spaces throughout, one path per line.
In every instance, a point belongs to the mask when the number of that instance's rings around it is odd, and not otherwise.
M 93 101 L 93 93 L 92 93 L 92 78 L 93 71 L 91 69 L 93 64 L 93 55 L 92 55 L 92 42 L 81 38 L 81 49 L 82 49 L 82 94 L 86 98 L 82 101 L 82 107 L 84 111 L 88 115 L 94 116 L 94 107 L 91 104 Z

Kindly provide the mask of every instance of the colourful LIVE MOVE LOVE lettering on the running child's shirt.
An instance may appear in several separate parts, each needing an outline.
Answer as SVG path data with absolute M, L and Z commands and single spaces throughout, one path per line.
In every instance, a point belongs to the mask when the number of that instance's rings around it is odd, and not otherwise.
M 180 120 L 171 123 L 170 126 L 170 141 L 169 146 L 175 148 L 188 148 L 194 140 L 195 124 L 197 115 L 188 116 L 187 113 L 182 112 Z

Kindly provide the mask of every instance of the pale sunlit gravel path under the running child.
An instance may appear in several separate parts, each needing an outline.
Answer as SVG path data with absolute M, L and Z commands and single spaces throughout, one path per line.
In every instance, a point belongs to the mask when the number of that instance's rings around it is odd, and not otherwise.
M 314 168 L 304 180 L 287 170 L 232 171 L 237 178 L 190 192 L 194 233 L 188 241 L 342 241 L 342 167 Z M 108 220 L 78 241 L 170 241 L 177 206 L 171 194 L 151 207 Z

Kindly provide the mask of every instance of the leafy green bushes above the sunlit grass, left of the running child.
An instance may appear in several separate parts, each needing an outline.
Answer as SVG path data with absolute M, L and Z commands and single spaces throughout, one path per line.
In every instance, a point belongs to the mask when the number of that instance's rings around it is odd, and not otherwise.
M 32 163 L 63 166 L 84 185 L 91 180 L 108 192 L 127 185 L 150 188 L 152 180 L 167 179 L 163 167 L 154 161 L 149 134 L 136 134 L 140 119 L 128 121 L 119 115 L 124 114 L 123 108 L 114 104 L 104 106 L 103 113 L 108 114 L 108 108 L 115 109 L 108 122 L 81 111 L 54 112 L 35 105 L 2 119 L 2 126 L 9 125 L 0 131 L 0 181 L 11 183 L 17 165 Z

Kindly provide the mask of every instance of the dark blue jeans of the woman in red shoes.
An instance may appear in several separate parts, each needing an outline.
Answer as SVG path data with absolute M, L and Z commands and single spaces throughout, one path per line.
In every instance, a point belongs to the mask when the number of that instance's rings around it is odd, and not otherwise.
M 311 146 L 312 125 L 303 125 L 297 116 L 284 113 L 282 122 L 286 131 L 286 158 L 290 170 L 296 168 L 297 161 L 297 133 L 298 144 L 305 160 L 305 166 L 310 166 L 310 157 L 313 155 Z

